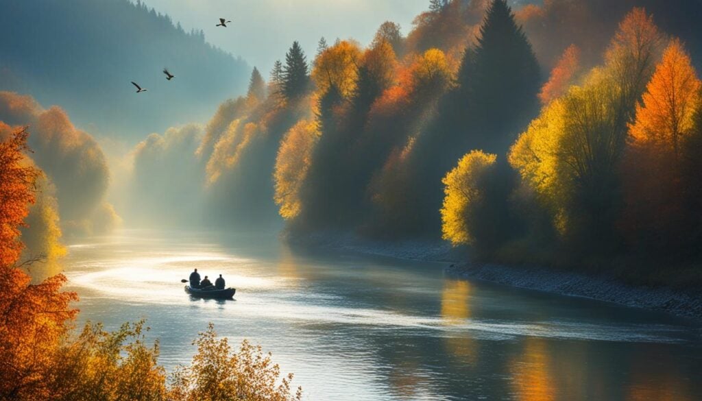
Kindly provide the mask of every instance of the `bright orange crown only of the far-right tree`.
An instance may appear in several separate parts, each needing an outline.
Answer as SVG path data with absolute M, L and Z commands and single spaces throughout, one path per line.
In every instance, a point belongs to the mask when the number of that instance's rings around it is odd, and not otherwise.
M 643 104 L 630 125 L 635 145 L 651 144 L 677 155 L 680 138 L 693 128 L 700 80 L 680 41 L 670 43 L 656 67 Z

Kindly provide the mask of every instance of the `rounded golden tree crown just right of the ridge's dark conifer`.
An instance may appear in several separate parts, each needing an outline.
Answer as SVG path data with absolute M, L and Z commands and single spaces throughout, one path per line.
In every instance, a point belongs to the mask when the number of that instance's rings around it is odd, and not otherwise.
M 336 86 L 344 98 L 356 90 L 361 49 L 352 41 L 340 41 L 327 48 L 314 61 L 312 79 L 322 93 Z

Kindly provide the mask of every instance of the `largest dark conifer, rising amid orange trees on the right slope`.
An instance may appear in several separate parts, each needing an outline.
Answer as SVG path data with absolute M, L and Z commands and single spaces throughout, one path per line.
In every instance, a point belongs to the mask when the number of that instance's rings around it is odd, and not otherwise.
M 538 111 L 540 72 L 534 51 L 505 0 L 494 0 L 480 27 L 475 54 L 464 58 L 473 145 L 503 153 Z M 466 75 L 472 75 L 468 78 Z

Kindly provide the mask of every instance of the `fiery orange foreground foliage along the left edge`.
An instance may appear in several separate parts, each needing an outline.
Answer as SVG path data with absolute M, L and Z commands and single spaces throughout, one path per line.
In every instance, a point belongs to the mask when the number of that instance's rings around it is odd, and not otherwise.
M 26 129 L 0 143 L 0 399 L 46 400 L 46 377 L 76 310 L 73 293 L 61 293 L 63 275 L 31 284 L 17 267 L 22 251 L 19 227 L 34 202 L 40 171 L 25 165 Z

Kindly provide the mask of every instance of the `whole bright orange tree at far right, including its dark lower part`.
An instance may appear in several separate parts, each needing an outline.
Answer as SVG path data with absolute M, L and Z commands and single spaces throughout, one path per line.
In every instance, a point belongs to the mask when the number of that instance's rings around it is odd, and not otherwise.
M 630 241 L 647 252 L 687 243 L 680 143 L 694 130 L 700 88 L 689 55 L 680 41 L 672 41 L 630 124 L 623 227 Z

